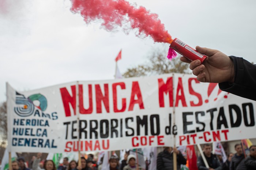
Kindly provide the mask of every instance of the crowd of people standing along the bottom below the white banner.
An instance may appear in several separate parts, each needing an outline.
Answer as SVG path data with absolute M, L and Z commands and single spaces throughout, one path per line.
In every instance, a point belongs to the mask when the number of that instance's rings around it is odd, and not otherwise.
M 222 161 L 220 155 L 212 154 L 212 147 L 209 144 L 203 146 L 203 156 L 197 157 L 198 170 L 255 170 L 256 169 L 256 145 L 249 147 L 250 154 L 245 155 L 241 144 L 235 145 L 236 153 L 228 153 L 227 160 Z M 156 170 L 173 170 L 173 153 L 177 155 L 177 170 L 187 164 L 187 156 L 183 155 L 175 147 L 164 147 L 164 150 L 157 155 Z M 52 160 L 46 160 L 41 163 L 41 153 L 37 153 L 33 159 L 32 170 L 103 170 L 102 160 L 98 165 L 94 160 L 94 155 L 89 154 L 88 158 L 81 157 L 81 163 L 68 158 L 63 159 L 63 164 L 56 167 Z M 204 158 L 205 159 L 204 159 Z M 103 158 L 102 158 L 103 159 Z M 148 164 L 147 164 L 148 165 Z M 13 170 L 30 170 L 25 166 L 25 159 L 19 157 L 12 162 Z M 106 168 L 105 168 L 106 169 Z M 108 159 L 108 170 L 147 170 L 148 166 L 141 167 L 136 156 L 125 152 L 122 161 L 116 155 L 110 156 Z M 192 168 L 191 168 L 192 169 Z

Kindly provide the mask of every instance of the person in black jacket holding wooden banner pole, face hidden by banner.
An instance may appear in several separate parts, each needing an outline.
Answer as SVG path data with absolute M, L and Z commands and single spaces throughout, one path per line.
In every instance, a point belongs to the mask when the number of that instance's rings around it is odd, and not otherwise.
M 173 169 L 173 152 L 177 154 L 177 169 L 180 170 L 181 164 L 186 165 L 187 160 L 176 147 L 165 147 L 164 150 L 157 155 L 157 170 Z

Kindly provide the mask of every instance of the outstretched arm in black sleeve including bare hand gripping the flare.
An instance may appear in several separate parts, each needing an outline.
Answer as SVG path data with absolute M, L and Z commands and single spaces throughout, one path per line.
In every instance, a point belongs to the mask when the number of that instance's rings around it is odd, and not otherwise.
M 227 56 L 218 50 L 197 46 L 196 50 L 207 57 L 189 61 L 181 57 L 182 62 L 190 63 L 189 68 L 200 82 L 219 83 L 222 91 L 230 92 L 251 100 L 256 100 L 256 66 L 243 58 Z M 189 57 L 189 56 L 188 56 Z

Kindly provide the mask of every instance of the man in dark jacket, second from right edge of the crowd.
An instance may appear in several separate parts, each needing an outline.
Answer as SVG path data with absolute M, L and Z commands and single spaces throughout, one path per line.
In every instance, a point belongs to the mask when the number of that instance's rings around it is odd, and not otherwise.
M 242 145 L 237 143 L 235 145 L 236 154 L 232 157 L 229 169 L 230 170 L 246 170 L 244 163 L 245 155 L 243 154 Z

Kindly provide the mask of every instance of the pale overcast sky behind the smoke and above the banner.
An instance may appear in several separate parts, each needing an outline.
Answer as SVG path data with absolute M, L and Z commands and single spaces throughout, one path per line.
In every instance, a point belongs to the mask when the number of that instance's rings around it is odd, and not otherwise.
M 129 0 L 165 24 L 173 38 L 191 47 L 214 48 L 256 63 L 255 0 Z M 70 12 L 69 0 L 0 0 L 0 102 L 5 82 L 18 91 L 76 80 L 113 79 L 114 59 L 121 73 L 146 62 L 169 44 L 136 37 L 117 28 L 107 32 L 100 21 L 86 24 Z M 169 60 L 166 59 L 166 62 Z

